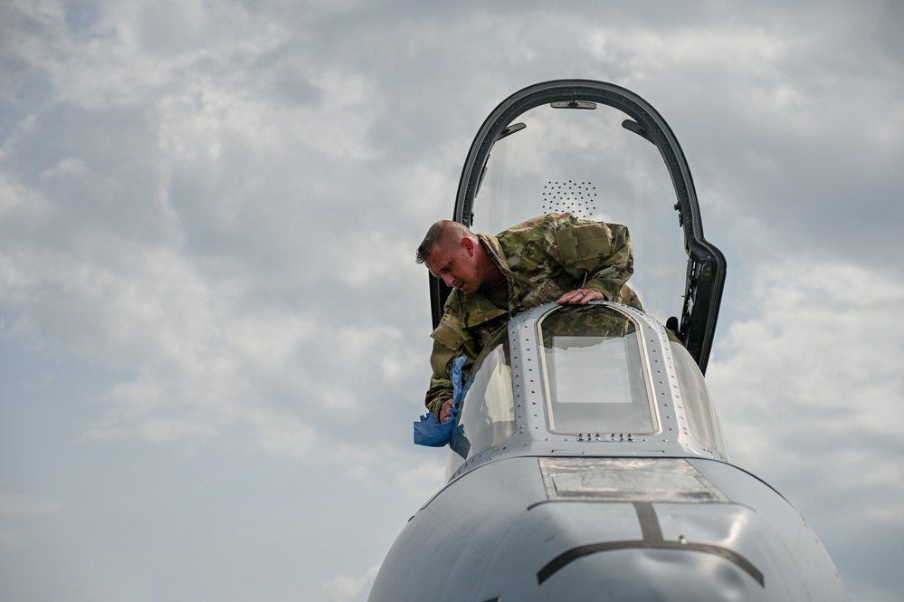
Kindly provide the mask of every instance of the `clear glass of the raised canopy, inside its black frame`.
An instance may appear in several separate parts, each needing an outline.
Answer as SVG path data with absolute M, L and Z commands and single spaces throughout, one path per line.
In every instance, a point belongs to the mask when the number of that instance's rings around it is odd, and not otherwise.
M 588 103 L 594 106 L 593 103 Z M 687 253 L 671 177 L 659 150 L 624 129 L 620 110 L 557 109 L 521 114 L 490 153 L 473 205 L 474 232 L 498 234 L 530 217 L 571 212 L 627 225 L 634 248 L 628 284 L 644 310 L 680 316 Z

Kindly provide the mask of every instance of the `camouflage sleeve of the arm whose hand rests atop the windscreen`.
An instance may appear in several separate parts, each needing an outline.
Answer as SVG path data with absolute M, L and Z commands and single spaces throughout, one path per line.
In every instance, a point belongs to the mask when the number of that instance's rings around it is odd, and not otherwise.
M 556 230 L 557 254 L 562 267 L 584 282 L 583 288 L 619 301 L 625 282 L 634 272 L 631 234 L 618 224 L 570 218 Z

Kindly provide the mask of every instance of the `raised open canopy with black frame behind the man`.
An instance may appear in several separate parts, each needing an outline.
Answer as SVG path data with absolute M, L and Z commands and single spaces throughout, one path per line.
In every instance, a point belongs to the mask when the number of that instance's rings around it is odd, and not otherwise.
M 628 226 L 629 284 L 705 371 L 725 258 L 703 237 L 678 140 L 633 92 L 601 81 L 538 83 L 504 100 L 481 126 L 452 219 L 497 234 L 530 217 L 566 212 Z M 448 294 L 431 279 L 434 326 Z

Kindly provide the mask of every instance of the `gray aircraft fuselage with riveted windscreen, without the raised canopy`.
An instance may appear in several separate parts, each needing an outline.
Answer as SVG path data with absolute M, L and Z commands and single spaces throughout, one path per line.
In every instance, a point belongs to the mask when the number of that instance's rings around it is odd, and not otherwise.
M 728 463 L 686 356 L 614 303 L 511 320 L 371 602 L 847 599 L 800 514 Z

